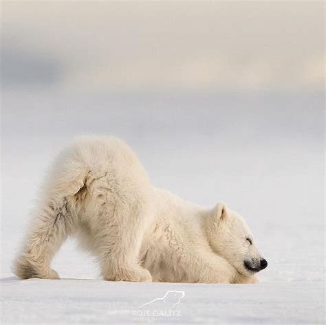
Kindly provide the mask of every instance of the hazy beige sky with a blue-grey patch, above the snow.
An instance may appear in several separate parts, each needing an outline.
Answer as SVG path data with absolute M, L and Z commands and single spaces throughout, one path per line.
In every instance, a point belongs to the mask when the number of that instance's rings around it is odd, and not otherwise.
M 320 91 L 324 3 L 3 2 L 3 83 Z

